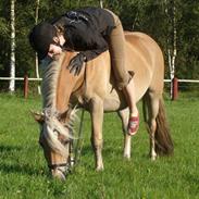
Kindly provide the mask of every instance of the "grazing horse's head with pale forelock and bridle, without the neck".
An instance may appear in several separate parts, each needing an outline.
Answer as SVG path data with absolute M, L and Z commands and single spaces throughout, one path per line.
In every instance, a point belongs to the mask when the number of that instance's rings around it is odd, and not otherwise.
M 42 113 L 33 113 L 40 125 L 39 144 L 52 176 L 65 179 L 71 166 L 71 147 L 74 139 L 73 120 L 75 111 L 69 109 L 65 113 L 58 113 L 51 109 Z

